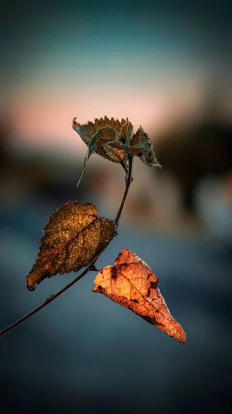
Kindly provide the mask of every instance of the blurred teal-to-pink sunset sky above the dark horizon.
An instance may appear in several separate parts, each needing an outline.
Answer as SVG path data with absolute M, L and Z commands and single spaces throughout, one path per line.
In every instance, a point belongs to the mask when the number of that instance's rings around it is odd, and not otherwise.
M 81 123 L 129 117 L 135 128 L 155 134 L 198 114 L 211 85 L 229 102 L 227 7 L 200 1 L 9 4 L 1 26 L 1 111 L 13 121 L 14 138 L 72 151 L 73 117 Z

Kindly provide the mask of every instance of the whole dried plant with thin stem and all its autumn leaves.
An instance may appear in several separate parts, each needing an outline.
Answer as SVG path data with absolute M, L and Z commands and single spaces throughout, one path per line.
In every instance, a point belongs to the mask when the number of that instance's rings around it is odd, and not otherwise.
M 83 267 L 85 270 L 70 284 L 48 297 L 43 304 L 3 329 L 1 335 L 48 305 L 90 270 L 98 271 L 95 267 L 96 260 L 118 234 L 120 216 L 133 179 L 134 157 L 139 157 L 149 167 L 161 168 L 149 136 L 141 126 L 134 133 L 128 118 L 115 121 L 114 118 L 109 120 L 105 117 L 83 125 L 78 124 L 74 118 L 72 128 L 87 145 L 78 184 L 83 177 L 89 157 L 96 153 L 123 166 L 126 184 L 122 201 L 114 221 L 98 217 L 94 204 L 81 201 L 67 201 L 50 215 L 48 223 L 43 228 L 44 234 L 40 240 L 36 261 L 26 277 L 28 289 L 35 290 L 36 285 L 43 279 L 57 273 L 63 275 L 71 271 L 78 272 Z M 150 324 L 185 344 L 186 334 L 167 308 L 158 288 L 158 277 L 130 250 L 123 248 L 114 266 L 105 266 L 99 270 L 94 279 L 93 291 L 103 293 L 114 302 L 131 309 Z

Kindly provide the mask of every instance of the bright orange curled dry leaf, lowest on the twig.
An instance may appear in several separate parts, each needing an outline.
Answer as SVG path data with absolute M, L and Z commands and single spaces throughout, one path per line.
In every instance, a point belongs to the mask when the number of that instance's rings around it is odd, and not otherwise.
M 94 292 L 131 309 L 182 344 L 186 334 L 173 319 L 158 288 L 158 277 L 142 259 L 123 248 L 114 266 L 105 266 L 94 279 Z

